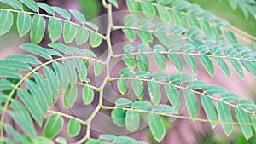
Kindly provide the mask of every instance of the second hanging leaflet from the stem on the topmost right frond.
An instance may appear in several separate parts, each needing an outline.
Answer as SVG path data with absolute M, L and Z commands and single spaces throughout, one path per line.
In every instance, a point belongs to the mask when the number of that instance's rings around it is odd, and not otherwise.
M 148 17 L 148 19 L 154 18 L 156 14 L 156 10 L 154 9 L 154 6 L 152 3 L 147 1 L 140 2 L 141 8 L 143 9 L 143 13 Z

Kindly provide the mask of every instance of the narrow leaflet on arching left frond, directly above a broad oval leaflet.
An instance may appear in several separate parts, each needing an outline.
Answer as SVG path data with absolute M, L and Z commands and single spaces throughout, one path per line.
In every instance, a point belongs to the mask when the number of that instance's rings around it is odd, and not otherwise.
M 64 59 L 62 62 L 65 67 L 65 71 L 67 72 L 67 79 L 69 84 L 73 87 L 75 84 L 77 84 L 78 77 L 75 66 L 73 66 L 73 62 L 70 60 Z

